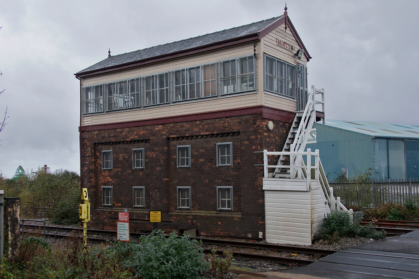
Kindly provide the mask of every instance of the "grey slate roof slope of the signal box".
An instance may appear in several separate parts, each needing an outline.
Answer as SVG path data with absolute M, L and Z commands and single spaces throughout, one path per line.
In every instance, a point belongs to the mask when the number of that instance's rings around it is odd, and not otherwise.
M 124 54 L 113 55 L 108 57 L 84 70 L 77 72 L 75 75 L 79 76 L 90 72 L 95 72 L 102 69 L 114 68 L 120 65 L 127 65 L 137 61 L 151 59 L 153 57 L 165 56 L 187 50 L 202 48 L 205 46 L 216 45 L 222 42 L 232 41 L 238 38 L 245 38 L 251 35 L 258 35 L 259 32 L 267 28 L 269 25 L 286 16 L 281 15 L 272 17 L 262 21 L 217 31 L 214 33 L 193 37 L 181 41 L 153 46 L 145 49 L 140 49 Z M 292 25 L 292 23 L 289 21 Z

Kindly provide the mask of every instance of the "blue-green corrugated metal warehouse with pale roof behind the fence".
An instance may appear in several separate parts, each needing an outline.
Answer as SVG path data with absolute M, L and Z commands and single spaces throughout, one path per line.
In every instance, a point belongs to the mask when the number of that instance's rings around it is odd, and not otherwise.
M 369 169 L 375 181 L 419 179 L 419 125 L 327 120 L 306 148 L 320 150 L 329 181 Z

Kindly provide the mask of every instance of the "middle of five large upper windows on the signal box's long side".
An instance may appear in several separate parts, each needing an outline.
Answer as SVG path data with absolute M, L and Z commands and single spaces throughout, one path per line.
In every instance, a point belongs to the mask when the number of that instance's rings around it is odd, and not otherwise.
M 143 78 L 144 105 L 169 103 L 169 73 Z

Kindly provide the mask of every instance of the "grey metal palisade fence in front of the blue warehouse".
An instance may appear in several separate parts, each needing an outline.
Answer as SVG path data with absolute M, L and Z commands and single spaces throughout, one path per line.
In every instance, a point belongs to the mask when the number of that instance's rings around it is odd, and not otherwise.
M 419 200 L 419 180 L 329 183 L 335 197 L 345 206 L 378 207 L 387 202 L 404 204 L 408 199 Z

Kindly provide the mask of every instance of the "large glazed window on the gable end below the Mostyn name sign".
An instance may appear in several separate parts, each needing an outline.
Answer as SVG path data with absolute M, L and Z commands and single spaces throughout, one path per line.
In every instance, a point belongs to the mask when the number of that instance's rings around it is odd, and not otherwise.
M 295 98 L 295 66 L 265 55 L 265 90 Z

